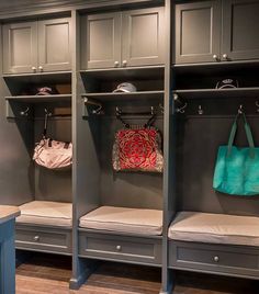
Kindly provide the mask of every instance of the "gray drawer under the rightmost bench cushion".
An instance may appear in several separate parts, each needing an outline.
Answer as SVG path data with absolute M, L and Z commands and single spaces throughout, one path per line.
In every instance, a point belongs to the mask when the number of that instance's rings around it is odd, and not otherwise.
M 169 267 L 259 280 L 259 248 L 170 240 Z

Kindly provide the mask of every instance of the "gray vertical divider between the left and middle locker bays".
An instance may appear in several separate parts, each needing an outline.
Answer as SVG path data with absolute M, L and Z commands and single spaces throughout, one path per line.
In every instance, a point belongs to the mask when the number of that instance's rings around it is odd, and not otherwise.
M 97 208 L 99 200 L 100 167 L 98 162 L 94 143 L 90 139 L 91 129 L 89 122 L 82 120 L 82 98 L 86 91 L 82 78 L 79 74 L 80 59 L 80 15 L 72 11 L 72 275 L 69 281 L 70 289 L 79 289 L 94 270 L 94 262 L 79 258 L 78 222 L 86 213 Z M 95 121 L 97 123 L 98 121 Z M 95 125 L 98 131 L 98 124 Z M 89 191 L 91 186 L 91 191 Z M 87 194 L 87 192 L 89 192 Z

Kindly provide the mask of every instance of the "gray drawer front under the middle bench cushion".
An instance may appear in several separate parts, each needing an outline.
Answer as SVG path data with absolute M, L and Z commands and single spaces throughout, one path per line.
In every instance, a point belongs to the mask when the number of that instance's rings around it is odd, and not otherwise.
M 161 263 L 161 240 L 106 234 L 79 234 L 81 256 L 136 263 Z

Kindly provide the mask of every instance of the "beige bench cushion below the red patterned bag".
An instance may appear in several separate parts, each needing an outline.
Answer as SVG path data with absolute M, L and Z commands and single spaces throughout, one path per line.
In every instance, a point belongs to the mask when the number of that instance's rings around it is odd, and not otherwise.
M 80 218 L 80 227 L 131 233 L 161 235 L 162 212 L 156 210 L 101 206 Z

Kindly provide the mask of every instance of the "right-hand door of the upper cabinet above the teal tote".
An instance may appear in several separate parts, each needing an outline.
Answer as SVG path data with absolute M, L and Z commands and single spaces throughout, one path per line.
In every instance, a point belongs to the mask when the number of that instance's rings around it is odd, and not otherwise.
M 222 57 L 259 58 L 259 1 L 224 0 Z

